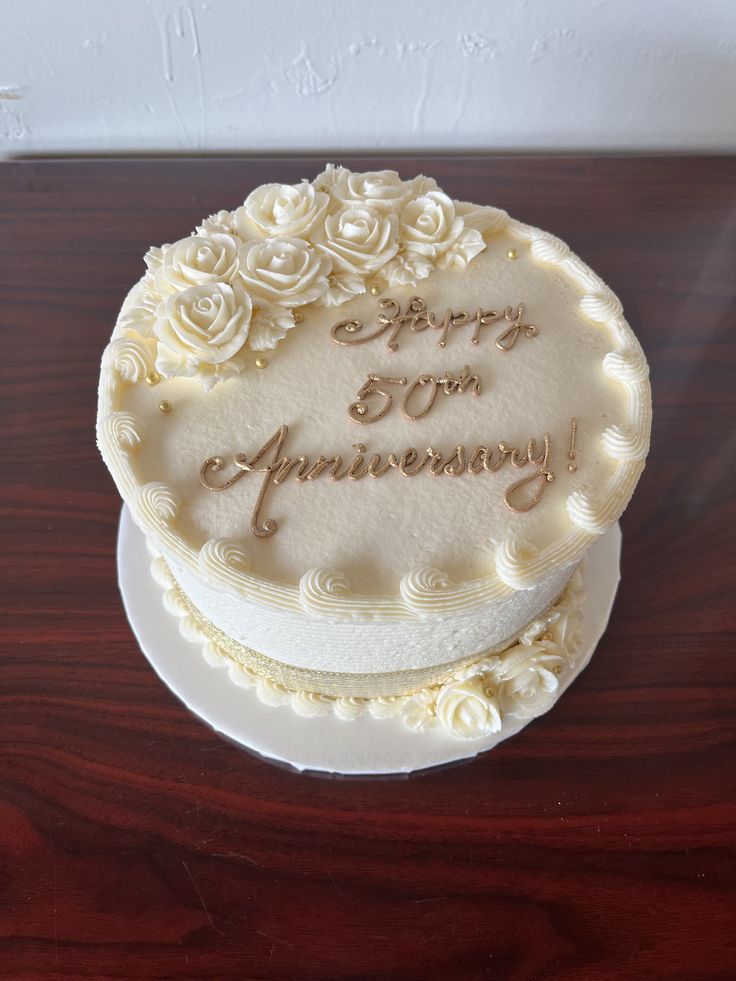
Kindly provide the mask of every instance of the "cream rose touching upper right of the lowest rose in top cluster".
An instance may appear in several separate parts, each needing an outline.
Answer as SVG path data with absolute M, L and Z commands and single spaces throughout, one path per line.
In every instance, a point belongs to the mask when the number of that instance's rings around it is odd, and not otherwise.
M 254 239 L 241 246 L 240 275 L 265 305 L 298 307 L 327 290 L 332 263 L 300 238 Z

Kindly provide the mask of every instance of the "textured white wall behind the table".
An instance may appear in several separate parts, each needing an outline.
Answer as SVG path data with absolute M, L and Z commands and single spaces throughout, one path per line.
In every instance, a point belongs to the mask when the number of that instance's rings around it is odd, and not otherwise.
M 736 147 L 733 0 L 0 0 L 0 155 Z

